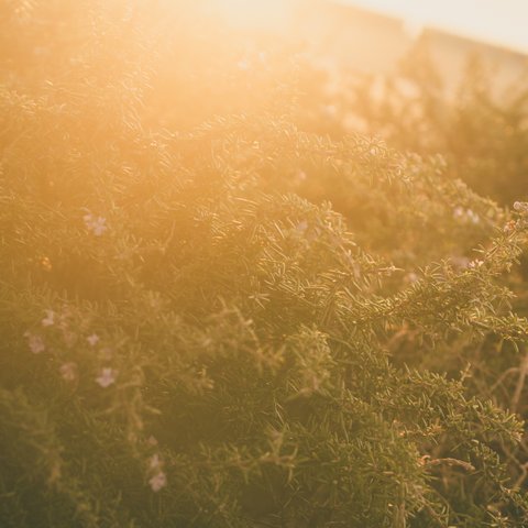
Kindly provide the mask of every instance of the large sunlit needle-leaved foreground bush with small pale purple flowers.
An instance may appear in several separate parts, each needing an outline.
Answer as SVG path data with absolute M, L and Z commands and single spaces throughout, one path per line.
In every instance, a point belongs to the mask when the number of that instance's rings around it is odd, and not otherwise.
M 528 205 L 189 4 L 1 7 L 1 526 L 525 526 Z

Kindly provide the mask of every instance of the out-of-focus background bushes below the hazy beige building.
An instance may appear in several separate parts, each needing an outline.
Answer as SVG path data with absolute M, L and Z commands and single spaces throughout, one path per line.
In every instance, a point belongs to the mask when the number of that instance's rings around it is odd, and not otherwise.
M 527 199 L 528 62 L 514 81 L 495 81 L 507 78 L 501 65 L 469 55 L 459 79 L 442 77 L 432 55 L 428 41 L 418 40 L 393 72 L 343 68 L 339 82 L 308 62 L 298 119 L 336 138 L 355 130 L 402 151 L 441 153 L 447 175 L 482 196 L 503 206 Z

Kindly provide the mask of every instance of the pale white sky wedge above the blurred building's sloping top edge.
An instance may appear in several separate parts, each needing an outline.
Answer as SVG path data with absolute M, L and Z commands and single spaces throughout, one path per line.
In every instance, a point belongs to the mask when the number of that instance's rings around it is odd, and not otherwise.
M 528 53 L 528 0 L 340 0 Z

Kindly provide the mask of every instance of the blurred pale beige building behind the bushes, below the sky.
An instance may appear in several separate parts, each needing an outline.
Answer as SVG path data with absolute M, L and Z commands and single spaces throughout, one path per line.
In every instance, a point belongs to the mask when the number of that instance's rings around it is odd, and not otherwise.
M 427 46 L 448 92 L 460 82 L 468 61 L 480 57 L 502 89 L 528 72 L 528 56 L 442 30 L 416 32 L 404 20 L 336 0 L 293 0 L 292 31 L 327 67 L 384 75 L 415 46 Z

